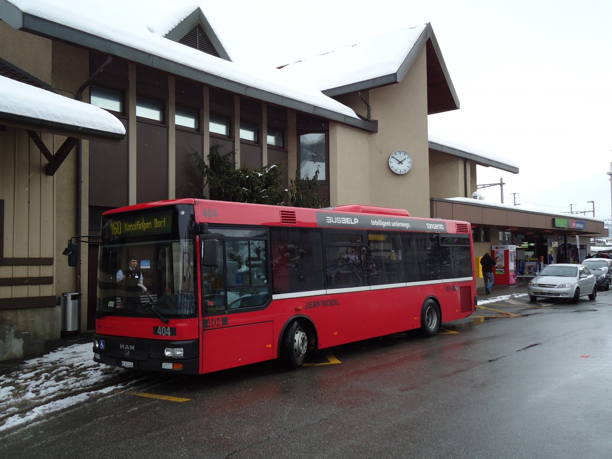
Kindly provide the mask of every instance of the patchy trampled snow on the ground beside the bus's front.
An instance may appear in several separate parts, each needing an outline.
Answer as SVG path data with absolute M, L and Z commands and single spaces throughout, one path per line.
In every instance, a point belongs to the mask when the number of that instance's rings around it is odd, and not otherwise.
M 0 434 L 126 386 L 121 373 L 94 362 L 92 343 L 27 360 L 0 379 Z

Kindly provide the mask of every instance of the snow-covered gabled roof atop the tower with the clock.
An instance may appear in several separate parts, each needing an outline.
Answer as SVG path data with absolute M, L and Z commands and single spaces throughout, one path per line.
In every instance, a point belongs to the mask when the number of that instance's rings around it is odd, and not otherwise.
M 324 94 L 347 94 L 400 82 L 426 46 L 428 113 L 455 110 L 459 100 L 431 24 L 392 31 L 280 69 L 296 80 L 315 81 Z

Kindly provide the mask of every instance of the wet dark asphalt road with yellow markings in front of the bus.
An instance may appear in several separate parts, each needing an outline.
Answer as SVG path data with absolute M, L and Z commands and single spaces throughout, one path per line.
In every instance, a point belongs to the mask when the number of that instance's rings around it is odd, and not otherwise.
M 0 455 L 612 457 L 612 292 L 507 299 L 441 332 L 340 346 L 296 371 L 135 373 L 129 389 L 5 432 Z

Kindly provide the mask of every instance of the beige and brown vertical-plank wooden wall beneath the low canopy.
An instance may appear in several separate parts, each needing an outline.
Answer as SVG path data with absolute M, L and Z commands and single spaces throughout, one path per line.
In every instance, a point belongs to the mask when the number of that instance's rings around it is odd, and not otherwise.
M 39 133 L 47 146 L 53 135 Z M 0 310 L 56 304 L 53 285 L 54 178 L 23 129 L 0 132 Z

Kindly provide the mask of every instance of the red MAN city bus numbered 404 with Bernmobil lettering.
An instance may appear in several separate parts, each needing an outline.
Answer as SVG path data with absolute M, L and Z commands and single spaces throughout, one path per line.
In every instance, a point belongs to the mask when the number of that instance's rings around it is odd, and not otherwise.
M 469 223 L 401 209 L 160 201 L 105 212 L 100 240 L 94 360 L 135 370 L 297 368 L 477 302 Z

